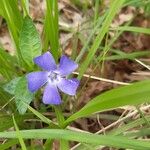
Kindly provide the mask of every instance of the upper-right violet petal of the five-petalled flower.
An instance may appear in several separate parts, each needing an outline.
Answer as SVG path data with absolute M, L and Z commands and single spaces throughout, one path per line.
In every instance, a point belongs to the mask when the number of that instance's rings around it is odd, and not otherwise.
M 62 76 L 71 74 L 77 68 L 78 68 L 78 64 L 72 61 L 71 59 L 69 59 L 67 56 L 64 55 L 61 57 L 58 72 Z

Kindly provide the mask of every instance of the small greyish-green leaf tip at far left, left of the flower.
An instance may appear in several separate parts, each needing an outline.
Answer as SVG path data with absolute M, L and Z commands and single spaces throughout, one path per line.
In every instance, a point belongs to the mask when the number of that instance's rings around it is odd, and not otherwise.
M 11 80 L 9 83 L 7 83 L 3 86 L 3 89 L 6 92 L 10 93 L 11 95 L 15 95 L 16 85 L 18 84 L 18 81 L 20 80 L 20 78 L 21 77 Z

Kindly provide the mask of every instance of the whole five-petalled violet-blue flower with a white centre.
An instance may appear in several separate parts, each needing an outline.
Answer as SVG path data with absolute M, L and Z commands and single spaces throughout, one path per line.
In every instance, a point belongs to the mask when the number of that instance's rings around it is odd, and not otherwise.
M 79 81 L 76 78 L 67 79 L 66 76 L 77 69 L 78 64 L 63 55 L 60 58 L 60 64 L 57 66 L 50 52 L 36 57 L 34 62 L 44 71 L 27 74 L 28 89 L 31 92 L 35 92 L 46 85 L 43 103 L 59 105 L 61 97 L 58 89 L 68 95 L 76 94 Z

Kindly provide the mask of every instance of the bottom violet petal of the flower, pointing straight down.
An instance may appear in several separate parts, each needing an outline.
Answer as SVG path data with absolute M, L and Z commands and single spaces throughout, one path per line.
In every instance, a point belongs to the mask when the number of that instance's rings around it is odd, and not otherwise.
M 61 97 L 55 85 L 47 84 L 44 90 L 43 103 L 53 105 L 59 105 L 61 103 Z

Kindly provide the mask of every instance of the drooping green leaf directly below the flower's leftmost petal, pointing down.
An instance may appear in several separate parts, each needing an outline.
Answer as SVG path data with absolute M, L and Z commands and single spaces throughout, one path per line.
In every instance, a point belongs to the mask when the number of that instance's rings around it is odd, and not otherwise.
M 33 98 L 34 94 L 27 88 L 26 77 L 22 77 L 18 81 L 15 89 L 15 102 L 20 114 L 24 114 L 28 108 L 28 105 L 25 105 L 24 103 L 30 104 Z

